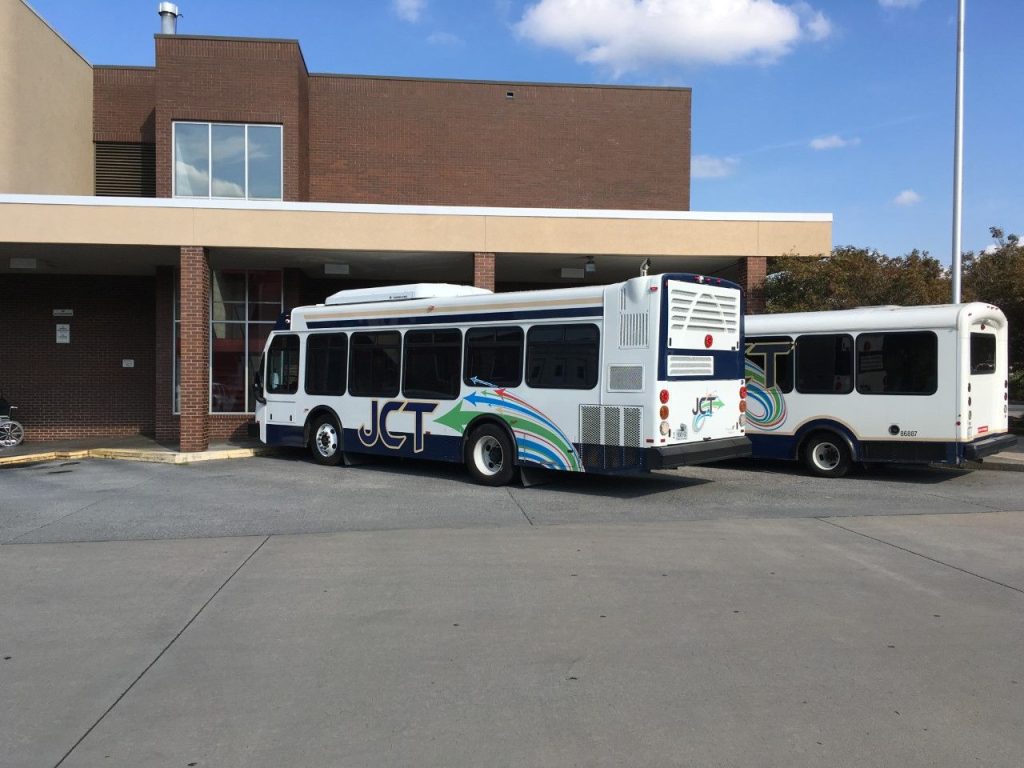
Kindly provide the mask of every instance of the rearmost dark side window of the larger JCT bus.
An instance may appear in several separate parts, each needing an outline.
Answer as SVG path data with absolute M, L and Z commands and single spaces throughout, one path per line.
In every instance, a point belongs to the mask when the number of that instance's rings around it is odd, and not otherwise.
M 526 386 L 593 389 L 599 355 L 597 326 L 534 326 L 526 334 Z

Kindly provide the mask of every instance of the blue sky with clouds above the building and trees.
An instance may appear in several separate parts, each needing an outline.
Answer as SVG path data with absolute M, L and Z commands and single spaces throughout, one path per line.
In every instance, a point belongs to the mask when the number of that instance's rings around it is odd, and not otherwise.
M 30 0 L 152 65 L 157 0 Z M 693 210 L 835 216 L 948 263 L 956 0 L 180 0 L 180 34 L 295 38 L 311 72 L 693 89 Z M 964 248 L 1024 234 L 1024 0 L 967 0 Z

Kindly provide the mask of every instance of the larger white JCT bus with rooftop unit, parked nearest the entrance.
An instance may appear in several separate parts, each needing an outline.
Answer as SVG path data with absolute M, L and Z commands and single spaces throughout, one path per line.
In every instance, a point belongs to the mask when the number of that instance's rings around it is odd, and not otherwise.
M 750 456 L 738 286 L 658 274 L 494 294 L 341 291 L 293 309 L 253 386 L 260 438 L 335 465 L 357 454 L 642 472 Z M 527 481 L 527 477 L 523 476 Z

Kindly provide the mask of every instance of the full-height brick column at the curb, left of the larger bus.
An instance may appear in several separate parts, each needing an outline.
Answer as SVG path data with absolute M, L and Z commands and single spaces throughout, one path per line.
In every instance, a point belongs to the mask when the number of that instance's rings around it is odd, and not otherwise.
M 181 451 L 210 446 L 210 263 L 181 247 Z

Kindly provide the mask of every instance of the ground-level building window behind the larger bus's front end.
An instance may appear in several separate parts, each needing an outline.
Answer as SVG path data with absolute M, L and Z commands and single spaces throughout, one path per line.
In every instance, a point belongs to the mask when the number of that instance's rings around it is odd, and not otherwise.
M 284 307 L 282 272 L 216 270 L 210 300 L 210 411 L 252 413 L 249 384 Z

